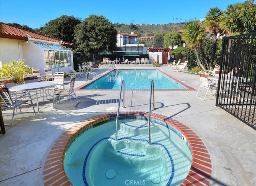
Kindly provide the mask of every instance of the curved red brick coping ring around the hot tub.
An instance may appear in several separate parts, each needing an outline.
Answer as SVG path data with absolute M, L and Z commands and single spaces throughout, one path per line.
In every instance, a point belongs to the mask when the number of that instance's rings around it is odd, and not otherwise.
M 116 117 L 117 112 L 110 112 L 106 114 L 100 114 L 90 117 L 84 121 L 79 121 L 73 127 L 67 129 L 52 145 L 50 152 L 44 162 L 43 170 L 43 182 L 44 185 L 72 185 L 68 180 L 64 171 L 64 155 L 68 145 L 73 139 L 84 131 L 86 127 L 104 121 L 110 117 Z M 144 111 L 123 111 L 119 113 L 119 116 L 142 116 L 148 117 L 148 112 Z M 206 149 L 204 143 L 198 137 L 198 135 L 176 119 L 164 116 L 162 114 L 151 113 L 151 118 L 158 119 L 175 127 L 184 137 L 186 137 L 192 152 L 192 164 L 188 172 L 186 179 L 181 185 L 210 185 L 210 179 L 212 174 L 212 163 L 210 155 Z

